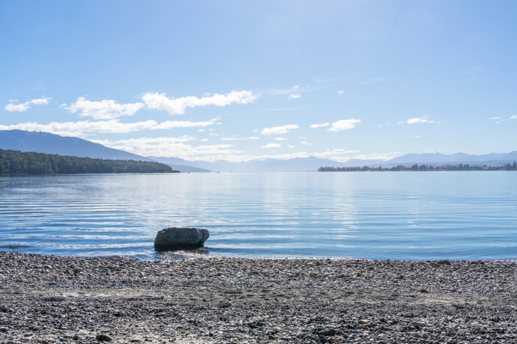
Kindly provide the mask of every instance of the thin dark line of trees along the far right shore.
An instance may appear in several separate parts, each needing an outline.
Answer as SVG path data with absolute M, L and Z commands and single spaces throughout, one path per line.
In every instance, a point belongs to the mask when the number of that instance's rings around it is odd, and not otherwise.
M 487 166 L 487 165 L 469 165 L 469 164 L 458 164 L 458 165 L 418 165 L 412 166 L 398 165 L 393 167 L 370 167 L 370 166 L 354 166 L 354 167 L 333 167 L 326 166 L 318 168 L 318 172 L 366 172 L 366 171 L 516 171 L 517 163 L 514 161 L 513 164 L 507 163 L 501 166 Z

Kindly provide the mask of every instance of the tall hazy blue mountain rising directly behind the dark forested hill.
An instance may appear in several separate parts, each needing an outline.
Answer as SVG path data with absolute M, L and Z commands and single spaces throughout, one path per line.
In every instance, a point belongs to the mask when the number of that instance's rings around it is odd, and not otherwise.
M 0 148 L 81 158 L 152 161 L 140 155 L 104 147 L 79 137 L 24 130 L 0 130 Z

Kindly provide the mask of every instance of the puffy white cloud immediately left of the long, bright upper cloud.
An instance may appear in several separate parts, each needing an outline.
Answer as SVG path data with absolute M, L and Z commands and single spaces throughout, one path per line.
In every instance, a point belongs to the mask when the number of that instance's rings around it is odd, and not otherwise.
M 80 97 L 77 102 L 65 107 L 72 114 L 79 113 L 83 117 L 93 119 L 115 119 L 121 116 L 132 116 L 144 107 L 143 103 L 118 104 L 114 100 L 104 99 L 92 102 Z

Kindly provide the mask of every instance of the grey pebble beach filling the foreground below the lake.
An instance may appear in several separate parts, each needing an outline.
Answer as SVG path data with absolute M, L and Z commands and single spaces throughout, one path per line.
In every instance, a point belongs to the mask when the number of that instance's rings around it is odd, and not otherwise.
M 0 342 L 514 343 L 509 261 L 0 252 Z

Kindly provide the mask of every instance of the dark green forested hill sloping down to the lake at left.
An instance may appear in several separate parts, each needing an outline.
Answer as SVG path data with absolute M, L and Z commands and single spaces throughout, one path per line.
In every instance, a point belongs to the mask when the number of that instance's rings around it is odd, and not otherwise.
M 172 173 L 152 161 L 105 160 L 0 149 L 0 174 Z

